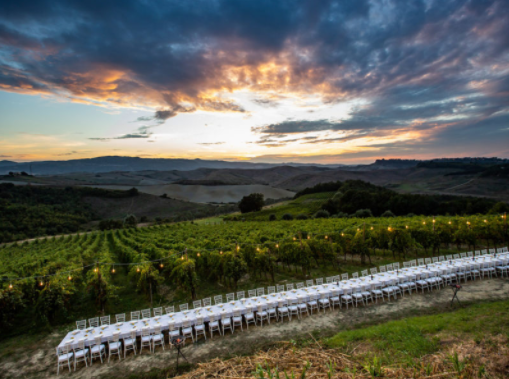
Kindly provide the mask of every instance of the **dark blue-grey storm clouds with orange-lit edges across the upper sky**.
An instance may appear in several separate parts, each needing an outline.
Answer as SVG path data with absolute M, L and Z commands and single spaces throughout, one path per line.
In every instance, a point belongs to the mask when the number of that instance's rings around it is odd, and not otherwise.
M 267 92 L 364 100 L 343 120 L 254 129 L 340 134 L 302 142 L 402 131 L 434 146 L 458 134 L 470 143 L 498 138 L 508 112 L 508 52 L 507 0 L 0 3 L 0 89 L 150 106 L 158 111 L 138 121 L 151 127 L 197 110 L 246 112 L 218 95 L 238 89 L 270 107 L 278 103 Z M 259 142 L 285 144 L 277 141 Z

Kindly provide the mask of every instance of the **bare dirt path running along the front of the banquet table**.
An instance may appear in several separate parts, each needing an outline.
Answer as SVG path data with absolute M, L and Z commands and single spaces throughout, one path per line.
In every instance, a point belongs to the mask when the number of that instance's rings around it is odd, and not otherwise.
M 244 332 L 236 331 L 226 337 L 214 337 L 195 346 L 187 346 L 184 354 L 191 363 L 214 357 L 228 357 L 248 354 L 278 341 L 327 336 L 340 330 L 349 329 L 362 323 L 381 322 L 407 316 L 436 313 L 450 309 L 452 291 L 449 288 L 425 294 L 406 295 L 397 301 L 384 302 L 367 307 L 327 311 L 292 322 L 273 323 L 264 327 L 253 327 Z M 503 300 L 509 298 L 509 280 L 488 279 L 469 282 L 459 293 L 459 298 L 468 302 Z M 12 351 L 0 361 L 0 377 L 5 378 L 53 378 L 56 376 L 55 346 L 65 332 L 53 333 L 31 346 Z M 94 363 L 92 367 L 79 368 L 73 378 L 128 377 L 137 372 L 148 372 L 151 368 L 165 368 L 175 363 L 173 350 L 157 349 L 155 354 L 144 353 L 136 357 L 130 354 L 127 359 L 111 363 Z M 64 370 L 62 377 L 69 376 Z

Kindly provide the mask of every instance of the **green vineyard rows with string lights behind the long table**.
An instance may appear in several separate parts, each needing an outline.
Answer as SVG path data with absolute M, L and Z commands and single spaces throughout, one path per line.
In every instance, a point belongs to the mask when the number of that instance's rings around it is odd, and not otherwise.
M 508 237 L 500 215 L 188 222 L 51 237 L 0 248 L 0 328 L 15 334 L 258 283 L 505 246 Z

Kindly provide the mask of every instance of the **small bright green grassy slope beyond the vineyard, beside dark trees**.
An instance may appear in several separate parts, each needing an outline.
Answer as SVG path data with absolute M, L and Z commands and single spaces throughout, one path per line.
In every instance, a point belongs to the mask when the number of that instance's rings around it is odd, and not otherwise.
M 246 221 L 268 221 L 271 214 L 275 214 L 276 218 L 281 220 L 285 213 L 290 213 L 293 217 L 299 214 L 305 214 L 311 217 L 319 211 L 322 208 L 322 204 L 327 201 L 327 199 L 334 196 L 334 194 L 335 192 L 322 192 L 304 195 L 281 205 L 263 209 L 260 212 L 245 213 L 237 215 L 237 217 L 241 217 Z

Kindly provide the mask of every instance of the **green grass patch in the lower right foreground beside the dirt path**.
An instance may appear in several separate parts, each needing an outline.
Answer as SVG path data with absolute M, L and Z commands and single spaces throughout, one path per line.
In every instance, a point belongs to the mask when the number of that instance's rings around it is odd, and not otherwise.
M 368 344 L 375 355 L 392 362 L 420 358 L 437 351 L 440 337 L 472 337 L 480 341 L 489 335 L 509 337 L 509 300 L 473 304 L 450 313 L 409 317 L 379 325 L 357 325 L 326 339 L 327 346 L 351 351 Z

